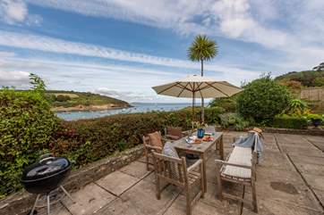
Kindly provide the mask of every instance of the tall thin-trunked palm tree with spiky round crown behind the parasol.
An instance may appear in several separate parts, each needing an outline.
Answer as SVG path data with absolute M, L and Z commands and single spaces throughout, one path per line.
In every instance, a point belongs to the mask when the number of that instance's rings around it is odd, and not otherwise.
M 192 62 L 201 63 L 201 76 L 203 76 L 203 62 L 214 58 L 218 53 L 217 43 L 205 35 L 194 38 L 192 45 L 188 49 L 188 58 Z M 201 98 L 201 121 L 204 122 L 204 99 Z

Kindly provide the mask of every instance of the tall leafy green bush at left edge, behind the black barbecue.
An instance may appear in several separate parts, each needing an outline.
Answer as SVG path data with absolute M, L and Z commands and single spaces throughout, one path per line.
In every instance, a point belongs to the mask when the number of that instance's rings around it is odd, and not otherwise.
M 58 119 L 39 88 L 0 90 L 0 196 L 21 188 L 21 170 L 49 147 Z

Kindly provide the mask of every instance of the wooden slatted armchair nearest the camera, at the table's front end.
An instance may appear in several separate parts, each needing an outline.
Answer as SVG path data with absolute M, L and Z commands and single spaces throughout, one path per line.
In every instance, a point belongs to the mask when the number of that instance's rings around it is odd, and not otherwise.
M 187 215 L 192 214 L 192 205 L 204 195 L 204 178 L 202 160 L 195 161 L 187 168 L 185 158 L 174 158 L 153 152 L 154 172 L 157 180 L 157 198 L 161 198 L 161 180 L 182 188 L 186 195 Z M 194 171 L 199 167 L 199 172 Z M 200 183 L 200 191 L 192 196 L 192 187 Z

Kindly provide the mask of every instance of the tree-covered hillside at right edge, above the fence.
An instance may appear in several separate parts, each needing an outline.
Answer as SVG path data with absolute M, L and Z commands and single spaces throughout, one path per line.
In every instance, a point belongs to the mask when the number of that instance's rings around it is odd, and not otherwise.
M 291 71 L 278 76 L 276 80 L 287 86 L 324 87 L 324 70 Z

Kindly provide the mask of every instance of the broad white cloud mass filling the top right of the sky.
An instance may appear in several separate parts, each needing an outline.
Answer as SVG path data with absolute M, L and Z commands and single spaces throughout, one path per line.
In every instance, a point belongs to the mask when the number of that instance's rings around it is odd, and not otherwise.
M 173 29 L 180 34 L 207 33 L 230 37 L 281 51 L 292 61 L 303 60 L 301 49 L 324 49 L 324 4 L 322 0 L 28 0 L 83 15 L 114 18 L 153 27 Z M 324 53 L 321 53 L 324 54 Z M 303 55 L 308 55 L 305 53 Z

